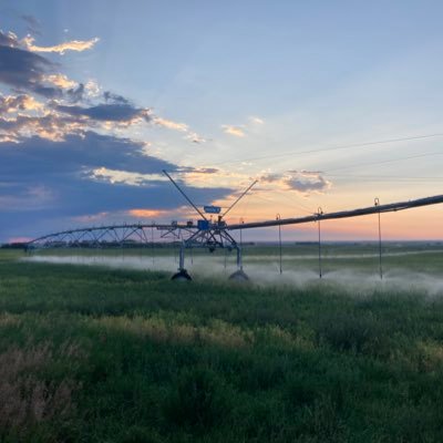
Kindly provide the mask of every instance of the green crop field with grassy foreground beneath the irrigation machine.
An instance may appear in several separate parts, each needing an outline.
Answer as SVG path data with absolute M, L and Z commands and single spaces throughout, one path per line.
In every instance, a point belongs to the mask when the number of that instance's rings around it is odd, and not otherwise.
M 441 442 L 443 245 L 317 254 L 1 250 L 0 441 Z

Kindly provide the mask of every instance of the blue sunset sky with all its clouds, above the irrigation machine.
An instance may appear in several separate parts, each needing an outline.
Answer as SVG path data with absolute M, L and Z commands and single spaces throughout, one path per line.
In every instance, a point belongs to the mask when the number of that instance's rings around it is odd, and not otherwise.
M 442 194 L 441 1 L 0 0 L 0 241 Z M 441 239 L 441 206 L 383 215 Z M 316 226 L 285 227 L 291 240 Z M 375 239 L 375 216 L 322 226 Z M 250 231 L 272 239 L 274 230 Z

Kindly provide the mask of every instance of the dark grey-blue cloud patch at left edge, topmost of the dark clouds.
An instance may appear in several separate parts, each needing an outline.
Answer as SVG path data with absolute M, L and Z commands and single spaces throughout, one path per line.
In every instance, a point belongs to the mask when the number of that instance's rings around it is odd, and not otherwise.
M 0 32 L 0 43 L 10 37 Z M 0 82 L 18 91 L 31 91 L 49 99 L 62 96 L 62 90 L 49 86 L 44 74 L 55 64 L 30 51 L 0 44 Z

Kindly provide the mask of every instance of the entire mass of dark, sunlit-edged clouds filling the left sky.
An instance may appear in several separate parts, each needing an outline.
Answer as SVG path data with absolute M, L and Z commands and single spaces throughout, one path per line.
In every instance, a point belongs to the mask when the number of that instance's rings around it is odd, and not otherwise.
M 177 210 L 184 202 L 159 174 L 162 169 L 183 171 L 182 182 L 197 202 L 209 204 L 231 194 L 227 182 L 217 183 L 217 169 L 183 168 L 151 155 L 147 143 L 110 135 L 114 127 L 145 123 L 203 143 L 187 124 L 103 92 L 92 80 L 76 82 L 60 72 L 60 64 L 38 53 L 81 51 L 95 42 L 38 47 L 30 37 L 19 40 L 12 32 L 0 31 L 0 83 L 9 90 L 0 93 L 3 238 L 60 229 L 66 217 L 132 216 L 131 210 L 147 210 L 147 205 L 158 214 Z M 193 174 L 215 178 L 194 184 Z M 138 216 L 143 214 L 147 216 Z

